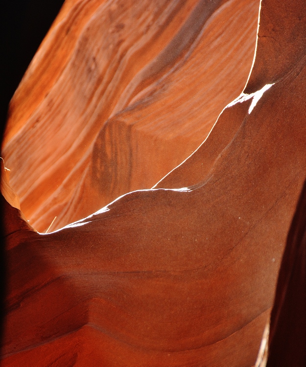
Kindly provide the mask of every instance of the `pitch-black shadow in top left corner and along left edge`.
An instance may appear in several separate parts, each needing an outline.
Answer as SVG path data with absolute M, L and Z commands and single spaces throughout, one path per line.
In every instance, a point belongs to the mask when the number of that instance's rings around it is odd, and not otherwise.
M 0 5 L 1 78 L 0 139 L 2 141 L 7 108 L 25 70 L 64 0 L 5 0 Z M 3 207 L 0 237 L 0 320 L 2 335 L 5 259 L 3 248 Z

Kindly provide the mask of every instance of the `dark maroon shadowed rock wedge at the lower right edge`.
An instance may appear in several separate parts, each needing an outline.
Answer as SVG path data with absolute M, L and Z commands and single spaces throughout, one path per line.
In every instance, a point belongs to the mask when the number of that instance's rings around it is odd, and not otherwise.
M 293 217 L 282 258 L 271 313 L 267 367 L 306 365 L 305 220 L 306 184 Z

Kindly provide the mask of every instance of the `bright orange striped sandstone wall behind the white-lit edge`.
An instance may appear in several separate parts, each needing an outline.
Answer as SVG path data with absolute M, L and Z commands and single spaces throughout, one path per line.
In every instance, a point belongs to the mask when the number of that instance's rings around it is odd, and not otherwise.
M 258 8 L 66 1 L 14 94 L 2 147 L 31 225 L 86 217 L 195 151 L 243 90 Z

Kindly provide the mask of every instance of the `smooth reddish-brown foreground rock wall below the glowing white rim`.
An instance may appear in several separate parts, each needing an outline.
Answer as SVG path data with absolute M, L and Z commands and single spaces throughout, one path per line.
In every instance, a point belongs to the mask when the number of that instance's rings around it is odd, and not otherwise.
M 262 0 L 244 93 L 156 189 L 49 234 L 4 203 L 3 366 L 254 365 L 306 178 L 305 25 Z

